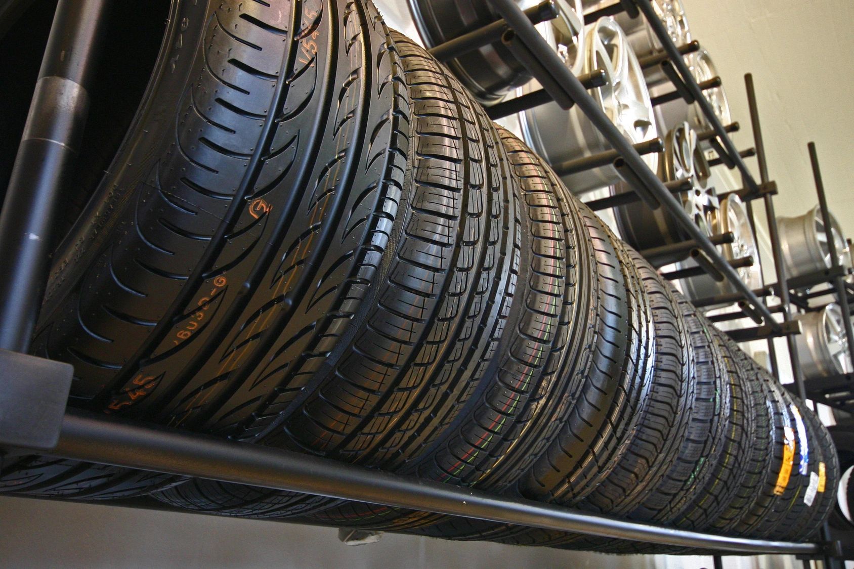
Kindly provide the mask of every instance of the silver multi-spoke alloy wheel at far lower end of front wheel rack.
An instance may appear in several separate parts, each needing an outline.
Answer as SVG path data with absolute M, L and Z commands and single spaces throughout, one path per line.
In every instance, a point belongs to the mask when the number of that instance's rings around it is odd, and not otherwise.
M 722 200 L 721 208 L 712 212 L 711 226 L 715 233 L 732 232 L 735 240 L 733 243 L 721 245 L 723 258 L 727 261 L 735 261 L 745 257 L 753 257 L 751 267 L 740 267 L 736 269 L 739 278 L 751 289 L 762 286 L 762 267 L 759 264 L 759 249 L 756 239 L 753 238 L 753 228 L 744 202 L 736 194 L 730 194 Z M 680 268 L 696 267 L 693 261 L 681 263 Z M 735 287 L 728 280 L 722 283 L 703 274 L 698 277 L 682 280 L 682 288 L 689 298 L 706 298 L 728 292 L 735 292 Z M 709 307 L 714 308 L 714 307 Z

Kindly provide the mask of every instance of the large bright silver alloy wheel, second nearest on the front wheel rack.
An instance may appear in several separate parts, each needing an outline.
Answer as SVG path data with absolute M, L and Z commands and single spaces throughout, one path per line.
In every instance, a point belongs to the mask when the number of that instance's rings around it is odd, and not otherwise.
M 591 91 L 600 108 L 632 143 L 658 137 L 637 56 L 617 22 L 602 18 L 588 26 L 584 48 L 581 73 L 603 69 L 607 78 L 605 85 Z M 531 81 L 520 94 L 539 88 Z M 599 129 L 577 106 L 567 111 L 556 103 L 548 103 L 524 111 L 519 122 L 525 142 L 552 164 L 611 149 Z M 645 155 L 644 161 L 653 171 L 658 169 L 658 155 Z M 562 179 L 570 191 L 579 194 L 616 184 L 620 177 L 608 165 L 564 175 Z

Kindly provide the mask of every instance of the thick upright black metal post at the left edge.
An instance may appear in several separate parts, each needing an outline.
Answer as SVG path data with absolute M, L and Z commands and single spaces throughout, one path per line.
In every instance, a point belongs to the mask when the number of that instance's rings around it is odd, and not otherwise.
M 60 0 L 0 214 L 0 348 L 26 352 L 50 267 L 56 214 L 89 112 L 109 0 Z

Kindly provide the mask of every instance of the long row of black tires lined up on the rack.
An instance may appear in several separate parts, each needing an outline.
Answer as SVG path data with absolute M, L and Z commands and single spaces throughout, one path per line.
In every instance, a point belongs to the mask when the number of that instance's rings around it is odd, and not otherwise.
M 810 409 L 369 3 L 173 12 L 56 251 L 34 345 L 74 365 L 72 405 L 629 519 L 815 533 L 839 466 Z M 5 457 L 0 490 L 671 550 L 51 457 Z

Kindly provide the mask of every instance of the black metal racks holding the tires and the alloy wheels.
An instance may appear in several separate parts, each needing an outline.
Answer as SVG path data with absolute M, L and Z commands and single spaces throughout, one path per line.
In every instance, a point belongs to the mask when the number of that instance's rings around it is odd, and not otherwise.
M 651 208 L 667 208 L 690 239 L 684 243 L 646 251 L 646 255 L 659 261 L 680 255 L 683 258 L 684 255 L 691 255 L 703 270 L 720 279 L 727 279 L 736 290 L 734 294 L 728 296 L 728 299 L 739 302 L 739 314 L 750 316 L 757 324 L 756 327 L 731 331 L 730 334 L 740 341 L 767 338 L 772 359 L 775 357 L 775 352 L 771 338 L 786 336 L 789 341 L 798 394 L 805 397 L 807 392 L 799 372 L 797 352 L 793 349 L 793 334 L 798 333 L 798 326 L 793 326 L 791 321 L 789 294 L 791 284 L 787 282 L 787 275 L 781 261 L 775 225 L 773 203 L 775 185 L 768 179 L 756 99 L 749 76 L 747 77 L 748 97 L 751 103 L 753 132 L 756 138 L 755 148 L 759 161 L 759 183 L 753 179 L 752 173 L 746 167 L 743 155 L 736 150 L 728 138 L 728 132 L 738 130 L 737 123 L 722 125 L 702 93 L 703 87 L 709 85 L 698 85 L 682 59 L 683 54 L 699 49 L 699 44 L 693 42 L 687 46 L 676 46 L 662 22 L 656 17 L 650 0 L 620 0 L 600 10 L 601 14 L 598 14 L 614 15 L 626 11 L 634 17 L 643 15 L 646 18 L 663 45 L 663 50 L 653 54 L 645 65 L 660 64 L 667 67 L 667 74 L 674 83 L 678 96 L 699 104 L 699 108 L 712 126 L 710 132 L 701 133 L 701 136 L 713 143 L 712 146 L 717 149 L 720 163 L 738 169 L 744 180 L 744 188 L 739 192 L 740 197 L 748 203 L 753 199 L 763 200 L 768 215 L 777 283 L 763 287 L 762 290 L 750 290 L 740 281 L 733 264 L 726 261 L 718 251 L 717 245 L 731 242 L 732 234 L 710 238 L 681 208 L 676 195 L 680 191 L 686 191 L 685 180 L 677 180 L 675 183 L 665 185 L 640 158 L 641 153 L 645 151 L 656 151 L 660 141 L 633 146 L 590 97 L 587 90 L 601 85 L 602 73 L 576 77 L 570 73 L 559 56 L 535 30 L 536 22 L 553 18 L 557 14 L 553 3 L 547 1 L 533 9 L 523 11 L 513 0 L 488 1 L 503 20 L 437 46 L 431 50 L 432 53 L 443 61 L 447 61 L 500 38 L 513 55 L 524 63 L 535 79 L 543 85 L 541 91 L 502 103 L 503 106 L 491 108 L 491 116 L 511 114 L 551 101 L 558 103 L 564 109 L 577 105 L 599 128 L 613 148 L 610 153 L 597 156 L 593 161 L 585 159 L 586 164 L 613 164 L 634 190 L 625 197 L 606 198 L 591 205 L 596 208 L 610 208 L 626 202 L 643 201 Z M 67 109 L 67 114 L 60 116 L 49 111 L 59 106 L 61 91 L 43 92 L 37 89 L 40 97 L 36 97 L 32 102 L 31 117 L 36 117 L 33 119 L 34 123 L 44 124 L 34 125 L 33 128 L 37 126 L 55 130 L 60 126 L 65 128 L 65 131 L 59 134 L 66 138 L 52 137 L 49 140 L 67 140 L 73 147 L 73 135 L 79 131 L 85 121 L 86 74 L 75 74 L 75 70 L 90 69 L 97 57 L 97 38 L 100 31 L 97 16 L 107 4 L 108 0 L 61 0 L 57 7 L 40 77 L 47 77 L 45 73 L 50 73 L 50 76 L 66 78 L 82 95 L 71 102 L 65 102 L 63 108 Z M 81 25 L 85 22 L 89 23 Z M 713 84 L 717 85 L 715 82 Z M 815 149 L 814 147 L 810 149 L 814 158 L 822 214 L 827 220 L 827 203 L 821 176 L 818 173 Z M 30 226 L 35 227 L 37 231 L 42 231 L 50 227 L 55 217 L 56 208 L 52 206 L 56 204 L 56 198 L 62 190 L 59 175 L 61 167 L 58 172 L 53 171 L 52 168 L 56 168 L 62 152 L 64 150 L 61 148 L 47 148 L 33 151 L 28 156 L 19 155 L 15 172 L 42 173 L 43 175 L 38 178 L 39 191 L 32 191 L 32 185 L 27 185 L 37 182 L 28 182 L 20 173 L 18 178 L 13 176 L 13 183 L 9 185 L 7 201 L 3 208 L 3 218 L 0 219 L 0 262 L 3 262 L 4 267 L 14 267 L 14 270 L 0 276 L 0 293 L 2 293 L 0 303 L 4 308 L 0 311 L 0 328 L 4 331 L 0 336 L 0 369 L 3 369 L 3 377 L 0 377 L 0 384 L 3 384 L 3 389 L 0 390 L 0 447 L 5 447 L 7 451 L 48 450 L 50 455 L 75 460 L 213 478 L 226 482 L 375 502 L 551 530 L 726 550 L 741 554 L 804 554 L 810 557 L 825 556 L 827 560 L 826 556 L 836 551 L 832 542 L 769 542 L 638 524 L 623 519 L 576 512 L 569 508 L 541 502 L 491 496 L 480 490 L 404 478 L 333 460 L 268 449 L 260 445 L 234 443 L 158 425 L 134 424 L 66 409 L 65 402 L 72 375 L 70 366 L 24 355 L 28 349 L 30 331 L 38 317 L 40 291 L 44 290 L 47 279 L 45 260 L 48 258 L 49 251 L 48 239 L 21 238 L 21 236 L 33 234 L 38 236 L 38 232 L 30 231 Z M 584 165 L 560 166 L 567 168 Z M 49 173 L 56 175 L 49 176 Z M 39 203 L 42 206 L 40 208 L 34 207 L 37 199 L 40 200 Z M 15 219 L 12 214 L 9 214 L 9 203 L 12 202 L 15 203 L 16 211 L 30 212 L 26 220 Z M 45 203 L 47 207 L 44 207 Z M 750 207 L 749 212 L 752 217 Z M 834 262 L 836 262 L 835 256 Z M 838 293 L 845 291 L 845 283 L 840 276 L 834 276 L 833 282 Z M 773 293 L 781 299 L 779 307 L 772 308 L 763 302 L 763 298 Z M 844 306 L 847 311 L 847 297 L 843 294 L 841 298 L 845 300 Z M 701 300 L 696 304 L 702 306 L 704 302 L 711 303 L 716 300 L 720 301 L 720 297 Z M 775 313 L 781 314 L 781 321 L 775 320 Z M 847 331 L 851 335 L 850 326 Z M 851 349 L 854 350 L 854 343 L 851 343 Z M 776 367 L 775 372 L 777 372 Z M 40 403 L 34 403 L 34 401 Z M 28 409 L 35 408 L 40 412 L 38 417 L 26 412 Z M 16 413 L 9 415 L 7 413 L 9 410 L 15 410 Z M 128 506 L 150 507 L 149 502 L 144 499 L 122 503 Z

